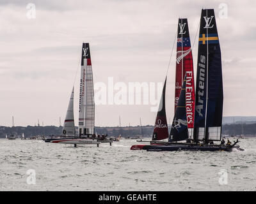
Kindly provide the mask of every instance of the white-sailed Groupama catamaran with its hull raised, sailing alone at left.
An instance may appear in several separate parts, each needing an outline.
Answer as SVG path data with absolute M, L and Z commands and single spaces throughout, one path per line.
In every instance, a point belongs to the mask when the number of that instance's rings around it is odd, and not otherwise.
M 95 103 L 93 91 L 93 72 L 92 61 L 90 55 L 89 43 L 83 43 L 81 58 L 81 78 L 80 78 L 80 94 L 79 94 L 79 136 L 76 137 L 76 128 L 74 124 L 74 87 L 70 96 L 68 110 L 63 125 L 63 137 L 58 139 L 50 139 L 51 143 L 67 143 L 74 144 L 97 144 L 101 142 L 109 142 L 111 140 L 100 140 L 95 136 Z

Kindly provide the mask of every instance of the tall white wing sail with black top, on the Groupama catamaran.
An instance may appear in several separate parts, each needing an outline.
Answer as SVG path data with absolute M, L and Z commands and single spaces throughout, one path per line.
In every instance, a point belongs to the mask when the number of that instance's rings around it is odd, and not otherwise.
M 92 61 L 89 43 L 83 43 L 79 94 L 79 136 L 93 135 L 95 104 L 93 91 Z

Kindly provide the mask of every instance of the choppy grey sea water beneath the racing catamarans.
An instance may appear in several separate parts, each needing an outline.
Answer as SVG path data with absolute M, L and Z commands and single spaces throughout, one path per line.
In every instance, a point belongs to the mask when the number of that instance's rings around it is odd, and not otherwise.
M 256 138 L 243 152 L 147 152 L 0 139 L 0 191 L 256 191 Z M 35 184 L 27 184 L 29 169 Z M 219 172 L 227 170 L 227 185 Z

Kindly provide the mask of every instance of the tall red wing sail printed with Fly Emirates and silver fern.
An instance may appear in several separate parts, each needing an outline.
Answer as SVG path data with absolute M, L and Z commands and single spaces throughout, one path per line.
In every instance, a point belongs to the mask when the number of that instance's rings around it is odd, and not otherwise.
M 194 107 L 195 107 L 195 85 L 193 71 L 193 57 L 189 39 L 188 20 L 179 18 L 178 35 L 177 35 L 177 54 L 176 54 L 176 78 L 175 78 L 175 104 L 176 109 L 182 82 L 186 75 L 186 114 L 188 128 L 194 126 Z M 192 133 L 193 131 L 191 131 Z M 193 136 L 189 133 L 189 136 Z

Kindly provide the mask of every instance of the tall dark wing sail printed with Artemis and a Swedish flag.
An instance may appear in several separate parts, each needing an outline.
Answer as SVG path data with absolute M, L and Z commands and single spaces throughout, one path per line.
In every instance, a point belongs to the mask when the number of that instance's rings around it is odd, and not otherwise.
M 220 140 L 223 82 L 220 43 L 213 9 L 203 9 L 201 14 L 195 100 L 195 140 Z

